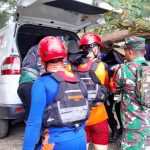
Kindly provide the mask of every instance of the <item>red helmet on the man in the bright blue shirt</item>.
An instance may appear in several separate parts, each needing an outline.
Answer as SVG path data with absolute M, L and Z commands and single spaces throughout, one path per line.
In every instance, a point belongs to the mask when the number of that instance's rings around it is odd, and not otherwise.
M 56 59 L 65 58 L 67 48 L 61 40 L 54 36 L 47 36 L 39 43 L 39 56 L 43 62 Z

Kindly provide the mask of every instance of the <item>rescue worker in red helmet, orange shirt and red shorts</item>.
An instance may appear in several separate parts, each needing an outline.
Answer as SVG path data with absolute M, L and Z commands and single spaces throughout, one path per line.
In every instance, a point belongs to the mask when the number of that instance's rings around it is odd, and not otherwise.
M 92 142 L 95 150 L 107 150 L 108 116 L 104 100 L 107 99 L 108 90 L 104 85 L 109 83 L 106 65 L 98 59 L 103 48 L 101 38 L 92 32 L 88 32 L 81 37 L 79 48 L 80 51 L 77 53 L 74 53 L 74 51 L 77 51 L 75 48 L 71 48 L 71 50 L 73 49 L 72 53 L 68 55 L 68 61 L 71 65 L 68 65 L 67 68 L 76 72 L 86 84 L 88 100 L 91 101 L 91 115 L 85 127 L 87 147 Z M 102 91 L 97 90 L 97 86 L 100 86 L 100 89 L 102 88 L 104 95 L 101 93 Z M 99 93 L 99 95 L 96 93 Z

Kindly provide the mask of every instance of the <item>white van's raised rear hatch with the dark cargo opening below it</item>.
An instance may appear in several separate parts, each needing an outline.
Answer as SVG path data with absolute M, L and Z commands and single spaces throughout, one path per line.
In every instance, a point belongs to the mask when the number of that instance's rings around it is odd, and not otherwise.
M 23 59 L 40 36 L 78 40 L 77 32 L 99 25 L 107 10 L 75 0 L 20 0 L 15 14 L 19 23 L 17 46 Z

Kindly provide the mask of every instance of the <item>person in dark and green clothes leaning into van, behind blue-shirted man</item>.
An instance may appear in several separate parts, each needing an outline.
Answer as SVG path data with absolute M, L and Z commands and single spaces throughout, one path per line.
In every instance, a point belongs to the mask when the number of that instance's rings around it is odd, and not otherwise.
M 28 117 L 30 111 L 31 88 L 33 82 L 40 76 L 42 72 L 45 71 L 38 56 L 38 43 L 42 38 L 43 37 L 39 37 L 36 40 L 36 44 L 29 49 L 22 62 L 22 72 L 19 79 L 17 93 L 23 103 L 26 112 L 26 118 Z

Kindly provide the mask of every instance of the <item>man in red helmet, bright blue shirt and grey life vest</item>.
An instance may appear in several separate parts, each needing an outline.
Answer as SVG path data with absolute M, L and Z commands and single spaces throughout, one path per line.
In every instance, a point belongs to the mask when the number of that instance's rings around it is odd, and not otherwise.
M 23 150 L 86 150 L 85 120 L 89 105 L 86 86 L 66 71 L 66 47 L 48 36 L 39 43 L 39 56 L 46 74 L 32 87 L 32 101 Z M 42 141 L 36 143 L 42 135 Z

